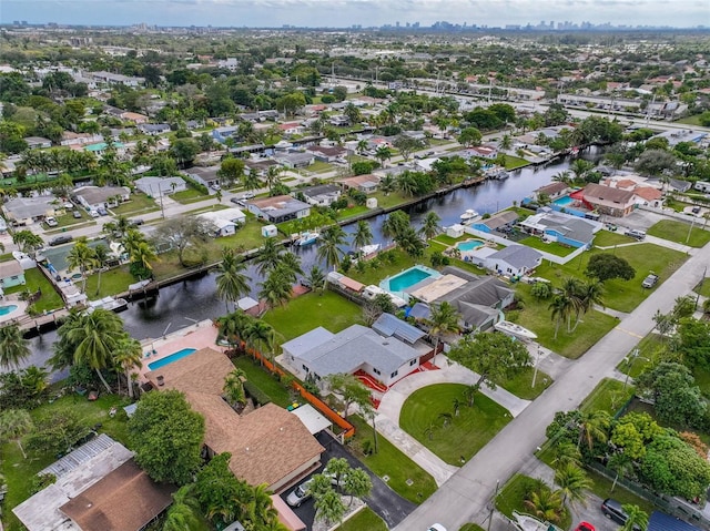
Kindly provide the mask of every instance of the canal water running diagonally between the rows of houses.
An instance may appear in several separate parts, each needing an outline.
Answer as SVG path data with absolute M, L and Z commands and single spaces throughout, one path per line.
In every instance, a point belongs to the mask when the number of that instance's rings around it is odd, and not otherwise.
M 598 159 L 600 152 L 592 149 L 585 157 Z M 504 181 L 485 181 L 468 188 L 457 188 L 446 195 L 433 197 L 405 210 L 412 224 L 418 227 L 428 212 L 436 212 L 442 218 L 442 226 L 448 226 L 459 221 L 460 214 L 467 208 L 474 208 L 480 214 L 494 213 L 520 202 L 530 193 L 551 182 L 552 175 L 566 171 L 570 160 L 560 160 L 542 166 L 527 166 L 510 172 Z M 382 234 L 382 225 L 387 215 L 382 214 L 367 219 L 372 226 L 374 243 L 389 243 Z M 356 225 L 347 225 L 345 232 L 352 234 Z M 348 238 L 349 239 L 349 238 Z M 302 268 L 307 273 L 317 259 L 317 245 L 308 247 L 292 247 L 302 261 Z M 256 298 L 258 283 L 262 280 L 254 266 L 247 268 L 252 296 Z M 173 284 L 161 288 L 158 297 L 149 300 L 129 303 L 129 308 L 121 313 L 126 330 L 134 338 L 158 338 L 166 333 L 175 331 L 195 321 L 211 319 L 225 313 L 225 304 L 215 295 L 215 275 L 206 274 L 199 278 Z M 48 331 L 30 339 L 32 355 L 27 365 L 41 366 L 51 356 L 52 344 L 57 339 L 57 331 Z M 58 375 L 59 376 L 59 375 Z

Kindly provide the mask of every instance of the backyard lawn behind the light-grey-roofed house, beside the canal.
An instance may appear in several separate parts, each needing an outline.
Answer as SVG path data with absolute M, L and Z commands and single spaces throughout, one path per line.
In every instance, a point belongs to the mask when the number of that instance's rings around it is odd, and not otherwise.
M 277 333 L 280 341 L 288 341 L 318 326 L 338 333 L 362 324 L 362 309 L 336 293 L 307 293 L 282 308 L 270 309 L 263 317 Z

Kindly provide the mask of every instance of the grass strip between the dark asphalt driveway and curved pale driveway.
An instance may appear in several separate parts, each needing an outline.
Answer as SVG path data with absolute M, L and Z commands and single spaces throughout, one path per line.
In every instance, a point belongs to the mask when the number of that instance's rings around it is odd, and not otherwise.
M 348 420 L 355 426 L 351 445 L 357 458 L 381 478 L 388 477 L 387 484 L 392 490 L 414 503 L 422 503 L 436 491 L 434 478 L 382 435 L 377 437 L 377 453 L 363 455 L 359 450 L 364 441 L 374 445 L 373 429 L 356 415 L 348 417 Z M 407 480 L 412 484 L 407 484 Z

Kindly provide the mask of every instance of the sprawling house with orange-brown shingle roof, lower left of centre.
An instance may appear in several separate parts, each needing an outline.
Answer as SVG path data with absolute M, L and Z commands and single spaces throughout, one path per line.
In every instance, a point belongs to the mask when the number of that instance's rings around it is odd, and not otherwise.
M 325 449 L 298 417 L 274 404 L 237 415 L 222 398 L 233 370 L 224 354 L 203 348 L 145 376 L 155 389 L 184 392 L 204 417 L 209 457 L 230 452 L 234 476 L 278 493 L 315 470 Z

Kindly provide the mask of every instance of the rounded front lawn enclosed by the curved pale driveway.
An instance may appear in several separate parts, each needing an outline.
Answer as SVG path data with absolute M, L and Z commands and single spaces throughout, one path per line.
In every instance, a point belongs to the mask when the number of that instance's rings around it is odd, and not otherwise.
M 402 407 L 399 426 L 449 464 L 468 461 L 510 420 L 510 413 L 490 398 L 476 394 L 473 407 L 466 405 L 466 386 L 439 384 L 409 395 Z M 442 413 L 453 415 L 453 402 L 462 402 L 458 416 L 443 426 Z

